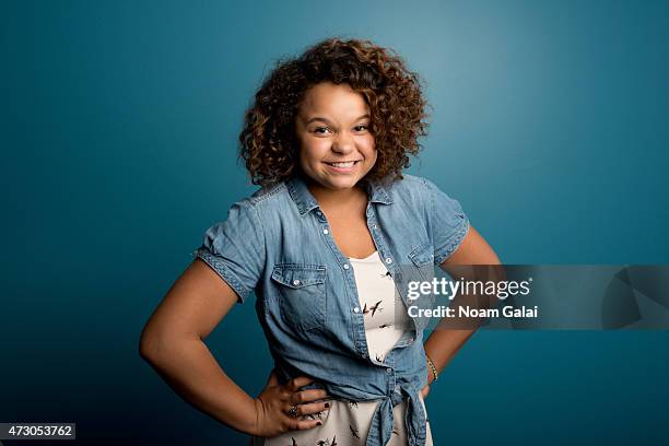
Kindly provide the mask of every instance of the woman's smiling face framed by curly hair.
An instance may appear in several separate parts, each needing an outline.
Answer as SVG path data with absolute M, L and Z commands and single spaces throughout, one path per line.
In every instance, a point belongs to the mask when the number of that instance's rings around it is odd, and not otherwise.
M 369 107 L 350 85 L 310 87 L 295 120 L 304 173 L 330 190 L 353 188 L 376 163 L 369 120 Z

